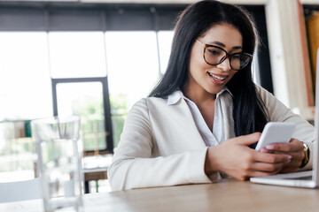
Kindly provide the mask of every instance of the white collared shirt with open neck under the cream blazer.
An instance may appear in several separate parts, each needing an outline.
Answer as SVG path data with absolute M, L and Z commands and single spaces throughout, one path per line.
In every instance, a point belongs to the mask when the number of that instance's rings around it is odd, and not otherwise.
M 216 100 L 214 105 L 214 125 L 213 125 L 213 133 L 210 131 L 209 127 L 206 125 L 204 117 L 201 115 L 198 110 L 198 106 L 192 102 L 190 99 L 183 95 L 181 90 L 175 91 L 172 95 L 168 95 L 167 105 L 175 104 L 181 98 L 185 99 L 190 110 L 192 117 L 195 120 L 195 124 L 198 128 L 198 132 L 200 133 L 202 139 L 204 140 L 207 147 L 216 146 L 222 141 L 225 140 L 225 129 L 224 129 L 224 118 L 222 114 L 222 106 L 221 100 L 219 98 L 223 92 L 230 90 L 227 87 L 223 87 L 222 91 L 216 94 Z M 231 93 L 230 93 L 231 95 Z

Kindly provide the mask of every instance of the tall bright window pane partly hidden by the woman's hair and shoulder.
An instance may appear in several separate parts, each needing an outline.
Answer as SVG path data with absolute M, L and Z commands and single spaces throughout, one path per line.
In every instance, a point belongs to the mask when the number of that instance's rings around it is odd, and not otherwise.
M 106 32 L 105 41 L 112 119 L 119 127 L 114 134 L 116 147 L 128 110 L 159 79 L 159 57 L 155 32 Z

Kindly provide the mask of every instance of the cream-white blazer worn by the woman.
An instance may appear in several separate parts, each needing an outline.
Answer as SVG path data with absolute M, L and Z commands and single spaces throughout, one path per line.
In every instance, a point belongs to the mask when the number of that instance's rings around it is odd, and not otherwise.
M 314 126 L 292 113 L 262 87 L 256 88 L 266 104 L 270 121 L 296 123 L 292 137 L 307 142 L 312 151 Z M 232 99 L 228 92 L 220 97 L 225 138 L 228 140 L 235 137 Z M 214 173 L 209 178 L 206 176 L 206 150 L 191 110 L 183 99 L 174 105 L 167 105 L 167 98 L 144 98 L 129 111 L 113 163 L 107 170 L 111 188 L 116 191 L 212 183 L 218 174 Z M 309 166 L 311 161 L 306 169 Z

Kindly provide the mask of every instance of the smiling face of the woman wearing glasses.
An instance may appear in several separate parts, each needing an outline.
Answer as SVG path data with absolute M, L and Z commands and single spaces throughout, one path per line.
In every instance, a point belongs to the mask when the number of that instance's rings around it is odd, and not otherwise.
M 202 42 L 199 42 L 199 40 Z M 184 95 L 198 103 L 201 101 L 197 98 L 202 98 L 203 95 L 200 94 L 203 94 L 204 90 L 211 95 L 216 95 L 222 91 L 226 83 L 240 69 L 240 67 L 236 70 L 232 68 L 234 65 L 231 64 L 234 64 L 234 61 L 236 62 L 236 59 L 234 60 L 236 57 L 233 57 L 234 54 L 235 56 L 236 54 L 245 54 L 242 53 L 242 35 L 231 25 L 214 26 L 199 40 L 196 40 L 199 43 L 195 42 L 191 49 L 190 76 L 183 86 Z M 210 45 L 208 48 L 205 46 L 203 59 L 201 54 L 203 52 L 202 43 L 214 43 L 218 46 Z M 227 50 L 222 48 L 227 49 L 231 54 L 229 55 Z M 247 62 L 250 62 L 250 60 Z M 241 69 L 244 67 L 241 67 Z M 214 114 L 212 115 L 211 117 L 214 119 Z

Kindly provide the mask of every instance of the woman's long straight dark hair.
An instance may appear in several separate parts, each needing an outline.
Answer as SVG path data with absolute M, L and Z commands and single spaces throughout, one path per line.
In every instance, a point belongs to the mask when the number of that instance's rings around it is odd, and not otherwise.
M 195 40 L 218 24 L 230 24 L 243 36 L 243 52 L 253 55 L 259 36 L 253 20 L 243 8 L 218 1 L 191 4 L 180 15 L 172 43 L 167 71 L 149 96 L 166 97 L 183 89 L 189 72 L 191 48 Z M 233 95 L 235 135 L 261 132 L 267 123 L 264 103 L 253 83 L 251 64 L 237 72 L 227 84 Z

